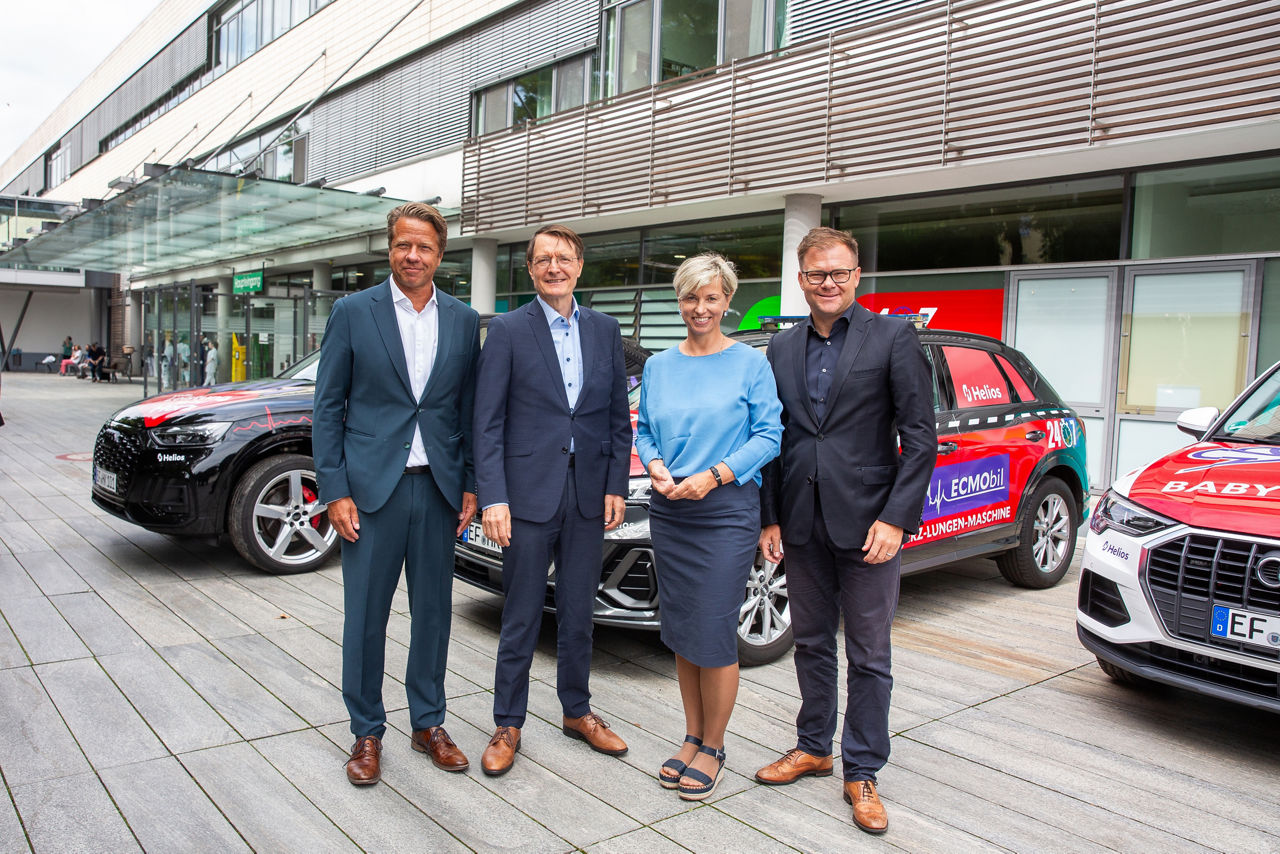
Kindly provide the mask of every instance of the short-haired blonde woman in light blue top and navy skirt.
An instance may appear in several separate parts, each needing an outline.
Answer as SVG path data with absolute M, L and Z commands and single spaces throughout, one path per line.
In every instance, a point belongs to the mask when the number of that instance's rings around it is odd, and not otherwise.
M 721 332 L 737 291 L 733 265 L 696 255 L 676 270 L 675 288 L 687 335 L 645 364 L 636 451 L 653 483 L 662 641 L 676 653 L 685 708 L 685 744 L 658 781 L 703 800 L 724 772 L 760 467 L 778 453 L 782 405 L 764 355 Z

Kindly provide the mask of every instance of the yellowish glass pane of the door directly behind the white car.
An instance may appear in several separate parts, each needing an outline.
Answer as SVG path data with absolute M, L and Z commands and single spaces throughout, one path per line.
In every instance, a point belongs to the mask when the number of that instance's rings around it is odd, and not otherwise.
M 1244 274 L 1140 273 L 1132 288 L 1121 407 L 1225 408 L 1244 384 Z

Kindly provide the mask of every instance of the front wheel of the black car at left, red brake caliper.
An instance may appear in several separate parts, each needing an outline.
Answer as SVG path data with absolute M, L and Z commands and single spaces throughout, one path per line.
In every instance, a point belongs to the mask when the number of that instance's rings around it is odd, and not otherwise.
M 317 493 L 311 457 L 282 453 L 259 460 L 232 493 L 227 529 L 236 551 L 274 575 L 321 566 L 338 548 L 338 531 Z

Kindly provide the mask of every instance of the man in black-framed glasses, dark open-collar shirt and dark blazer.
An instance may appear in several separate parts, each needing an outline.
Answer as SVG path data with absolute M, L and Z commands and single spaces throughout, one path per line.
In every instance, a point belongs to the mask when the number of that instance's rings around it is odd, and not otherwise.
M 932 373 L 910 323 L 854 301 L 852 237 L 815 228 L 797 255 L 810 314 L 769 343 L 785 431 L 760 490 L 760 548 L 773 561 L 786 553 L 800 713 L 796 748 L 755 776 L 782 785 L 832 772 L 844 616 L 845 800 L 861 830 L 883 834 L 876 772 L 890 749 L 890 627 L 899 552 L 919 529 L 937 460 Z

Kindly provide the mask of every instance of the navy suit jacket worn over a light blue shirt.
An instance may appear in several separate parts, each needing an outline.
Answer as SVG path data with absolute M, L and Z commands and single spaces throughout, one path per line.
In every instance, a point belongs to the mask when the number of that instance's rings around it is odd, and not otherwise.
M 475 402 L 481 507 L 545 522 L 559 507 L 573 440 L 579 511 L 604 515 L 604 495 L 626 495 L 631 461 L 622 335 L 613 318 L 581 307 L 582 391 L 570 411 L 547 315 L 535 300 L 489 320 Z

